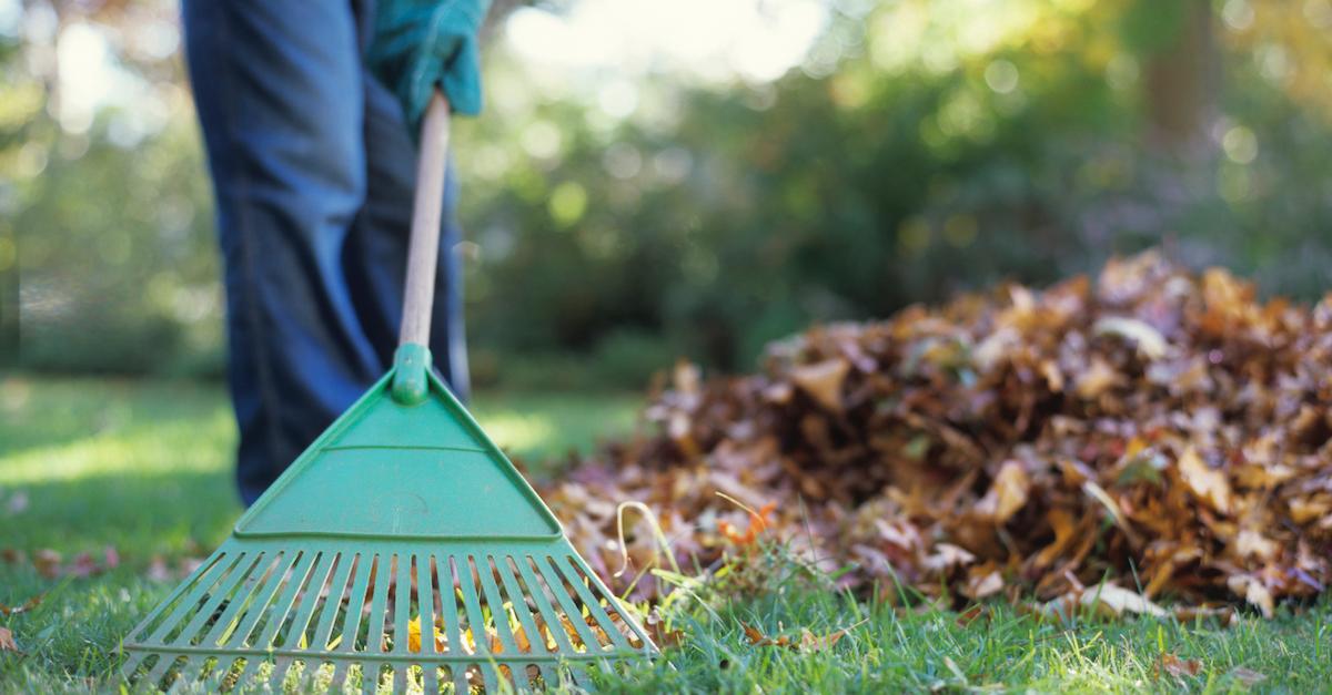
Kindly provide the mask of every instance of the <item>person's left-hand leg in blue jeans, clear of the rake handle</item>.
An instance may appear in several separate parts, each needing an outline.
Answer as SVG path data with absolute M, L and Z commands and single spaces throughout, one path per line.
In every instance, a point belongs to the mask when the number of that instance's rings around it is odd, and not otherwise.
M 385 367 L 342 266 L 366 194 L 361 51 L 345 3 L 185 0 L 184 27 L 250 503 Z

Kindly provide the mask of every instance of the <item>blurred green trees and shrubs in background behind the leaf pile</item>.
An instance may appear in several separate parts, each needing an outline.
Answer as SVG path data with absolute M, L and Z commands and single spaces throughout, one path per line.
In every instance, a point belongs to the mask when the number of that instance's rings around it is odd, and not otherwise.
M 21 367 L 220 373 L 176 12 L 0 0 Z M 456 140 L 482 385 L 749 369 L 811 321 L 1148 245 L 1332 278 L 1332 0 L 500 3 L 486 69 Z

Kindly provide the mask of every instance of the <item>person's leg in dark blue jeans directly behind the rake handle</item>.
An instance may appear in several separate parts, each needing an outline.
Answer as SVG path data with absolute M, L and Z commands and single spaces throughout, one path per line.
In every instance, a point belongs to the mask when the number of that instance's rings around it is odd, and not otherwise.
M 368 197 L 348 237 L 346 264 L 352 300 L 380 357 L 392 359 L 402 320 L 402 280 L 416 189 L 417 148 L 397 97 L 369 72 L 365 87 Z M 462 234 L 456 218 L 458 185 L 450 166 L 445 181 L 444 229 L 436 273 L 430 353 L 454 394 L 469 391 L 462 326 L 462 269 L 456 250 Z

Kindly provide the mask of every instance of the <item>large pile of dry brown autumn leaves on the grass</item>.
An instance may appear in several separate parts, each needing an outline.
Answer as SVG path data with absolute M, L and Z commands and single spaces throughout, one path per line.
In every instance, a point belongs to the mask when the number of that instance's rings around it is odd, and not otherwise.
M 1100 586 L 1269 615 L 1332 582 L 1329 403 L 1332 294 L 1263 304 L 1146 253 L 1095 282 L 815 328 L 754 375 L 682 365 L 646 411 L 654 434 L 542 495 L 607 578 L 617 505 L 638 501 L 686 567 L 767 534 L 852 566 L 858 587 L 1054 604 Z M 630 566 L 659 565 L 627 517 Z

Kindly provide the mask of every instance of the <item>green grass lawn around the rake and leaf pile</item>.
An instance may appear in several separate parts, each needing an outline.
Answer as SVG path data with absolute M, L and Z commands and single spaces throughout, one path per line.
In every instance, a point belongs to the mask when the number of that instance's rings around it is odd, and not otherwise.
M 633 426 L 634 398 L 607 394 L 481 394 L 484 426 L 529 459 L 586 447 Z M 44 594 L 0 616 L 20 652 L 0 652 L 0 692 L 116 691 L 116 647 L 172 587 L 188 558 L 206 555 L 240 509 L 230 486 L 234 431 L 220 389 L 188 383 L 0 378 L 0 550 L 55 550 L 119 566 L 47 579 L 31 559 L 0 559 L 0 603 Z M 9 555 L 13 555 L 11 553 Z M 155 558 L 160 558 L 155 562 Z M 707 591 L 702 591 L 707 594 Z M 706 598 L 706 596 L 705 596 Z M 1236 626 L 1172 620 L 1038 623 L 1003 607 L 960 626 L 947 611 L 899 614 L 826 590 L 777 586 L 743 599 L 681 602 L 681 647 L 605 690 L 699 692 L 968 690 L 1332 688 L 1332 606 Z M 862 623 L 862 620 L 864 620 Z M 834 647 L 801 652 L 749 644 L 767 634 L 827 634 L 860 623 Z M 1159 672 L 1162 654 L 1196 675 Z

